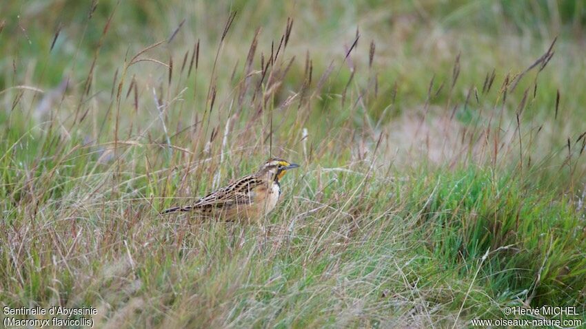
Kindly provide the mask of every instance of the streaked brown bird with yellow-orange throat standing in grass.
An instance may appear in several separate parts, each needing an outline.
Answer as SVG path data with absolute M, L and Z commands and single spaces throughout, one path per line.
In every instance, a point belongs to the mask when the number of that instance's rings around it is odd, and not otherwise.
M 161 212 L 194 211 L 204 217 L 258 222 L 272 211 L 281 195 L 281 178 L 287 170 L 299 167 L 279 158 L 271 158 L 250 175 L 228 184 L 190 206 L 175 206 Z

